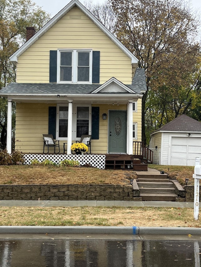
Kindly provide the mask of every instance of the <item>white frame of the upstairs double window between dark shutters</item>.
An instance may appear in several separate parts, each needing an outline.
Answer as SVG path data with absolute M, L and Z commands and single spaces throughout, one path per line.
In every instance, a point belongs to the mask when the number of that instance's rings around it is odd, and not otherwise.
M 60 52 L 72 52 L 72 81 L 60 81 Z M 78 82 L 78 52 L 90 53 L 89 81 Z M 58 49 L 57 50 L 57 83 L 91 84 L 92 83 L 92 49 Z

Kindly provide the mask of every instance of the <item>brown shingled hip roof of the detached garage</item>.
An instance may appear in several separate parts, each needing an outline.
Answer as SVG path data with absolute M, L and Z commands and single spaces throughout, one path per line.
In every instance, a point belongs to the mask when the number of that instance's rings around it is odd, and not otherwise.
M 158 130 L 151 133 L 154 134 L 155 132 L 201 132 L 201 122 L 196 121 L 187 115 L 180 115 L 173 121 L 167 123 L 166 125 L 162 126 Z

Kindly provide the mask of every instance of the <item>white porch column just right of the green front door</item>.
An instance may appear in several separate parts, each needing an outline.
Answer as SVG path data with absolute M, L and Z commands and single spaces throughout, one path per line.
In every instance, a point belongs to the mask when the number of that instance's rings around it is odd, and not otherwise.
M 133 101 L 128 100 L 128 146 L 127 153 L 129 155 L 133 154 Z

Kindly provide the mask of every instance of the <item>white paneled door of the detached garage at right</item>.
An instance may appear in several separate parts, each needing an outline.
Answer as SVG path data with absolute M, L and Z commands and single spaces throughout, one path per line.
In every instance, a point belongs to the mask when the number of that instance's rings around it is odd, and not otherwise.
M 201 160 L 201 138 L 172 137 L 171 165 L 194 166 L 196 157 Z

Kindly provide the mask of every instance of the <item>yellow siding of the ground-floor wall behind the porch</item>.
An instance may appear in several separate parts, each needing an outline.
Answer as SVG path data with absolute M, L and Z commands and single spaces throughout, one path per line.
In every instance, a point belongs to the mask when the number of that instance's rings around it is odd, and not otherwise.
M 16 131 L 15 131 L 15 149 L 24 153 L 41 153 L 43 151 L 43 134 L 48 133 L 48 108 L 56 104 L 45 103 L 17 103 L 16 105 Z M 108 142 L 108 116 L 106 120 L 102 119 L 102 114 L 108 115 L 108 110 L 127 110 L 127 105 L 93 105 L 100 107 L 99 114 L 99 139 L 92 140 L 92 153 L 107 153 Z M 141 102 L 138 105 L 140 112 Z M 137 114 L 138 112 L 133 112 Z M 141 141 L 141 120 L 134 116 L 138 123 L 138 140 Z M 63 142 L 60 141 L 60 150 L 63 152 Z M 73 140 L 75 142 L 75 140 Z M 45 148 L 46 149 L 46 148 Z M 46 151 L 46 150 L 45 150 Z

